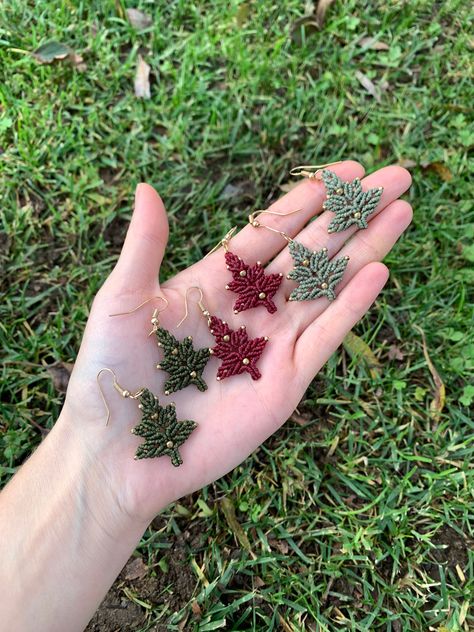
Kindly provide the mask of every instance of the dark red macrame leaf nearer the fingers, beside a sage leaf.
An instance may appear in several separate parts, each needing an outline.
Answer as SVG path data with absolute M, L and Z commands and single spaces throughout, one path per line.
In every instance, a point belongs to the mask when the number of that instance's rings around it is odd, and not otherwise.
M 283 275 L 265 274 L 260 261 L 249 266 L 229 251 L 225 253 L 225 262 L 233 276 L 225 289 L 239 294 L 234 304 L 234 314 L 259 305 L 264 305 L 270 314 L 275 313 L 277 308 L 272 298 L 281 285 Z

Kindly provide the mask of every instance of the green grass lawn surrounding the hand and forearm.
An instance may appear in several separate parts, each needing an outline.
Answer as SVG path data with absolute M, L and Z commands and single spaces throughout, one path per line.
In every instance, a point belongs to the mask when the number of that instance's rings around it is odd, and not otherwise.
M 290 421 L 149 528 L 138 553 L 160 585 L 169 578 L 167 595 L 132 582 L 129 596 L 151 605 L 142 629 L 180 630 L 185 618 L 201 632 L 472 629 L 468 4 L 336 2 L 316 32 L 293 28 L 296 0 L 249 2 L 247 17 L 235 0 L 135 6 L 153 16 L 140 33 L 110 0 L 0 5 L 2 484 L 59 413 L 45 366 L 74 360 L 138 181 L 167 205 L 171 275 L 275 199 L 291 166 L 411 161 L 414 223 L 356 328 L 379 375 L 338 352 L 301 403 L 308 426 Z M 367 37 L 389 49 L 364 48 Z M 53 38 L 87 70 L 27 54 Z M 152 67 L 146 102 L 133 95 L 139 51 Z M 420 329 L 446 387 L 439 414 Z M 193 584 L 185 598 L 171 548 Z

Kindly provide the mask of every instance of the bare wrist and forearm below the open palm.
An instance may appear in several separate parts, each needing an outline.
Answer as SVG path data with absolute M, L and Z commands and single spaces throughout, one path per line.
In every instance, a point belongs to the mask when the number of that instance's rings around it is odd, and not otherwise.
M 66 409 L 0 496 L 8 629 L 84 629 L 147 526 L 122 510 L 100 449 L 80 435 Z

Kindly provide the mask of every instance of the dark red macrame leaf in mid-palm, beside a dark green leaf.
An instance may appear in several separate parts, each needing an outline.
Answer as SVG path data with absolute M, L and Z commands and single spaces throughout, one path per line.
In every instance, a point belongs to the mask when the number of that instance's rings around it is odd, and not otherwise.
M 211 354 L 222 360 L 217 380 L 244 372 L 250 373 L 253 380 L 262 377 L 256 364 L 268 342 L 267 336 L 250 339 L 244 325 L 233 330 L 217 316 L 210 317 L 209 331 L 217 343 L 212 347 Z

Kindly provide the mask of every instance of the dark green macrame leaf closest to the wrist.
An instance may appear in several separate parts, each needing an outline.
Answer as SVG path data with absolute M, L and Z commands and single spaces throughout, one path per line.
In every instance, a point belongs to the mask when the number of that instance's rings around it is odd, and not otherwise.
M 143 437 L 145 443 L 138 446 L 135 458 L 169 456 L 174 466 L 181 465 L 183 460 L 178 448 L 196 428 L 197 423 L 190 420 L 178 421 L 174 405 L 160 406 L 148 389 L 140 396 L 140 408 L 142 419 L 132 428 L 132 434 Z

